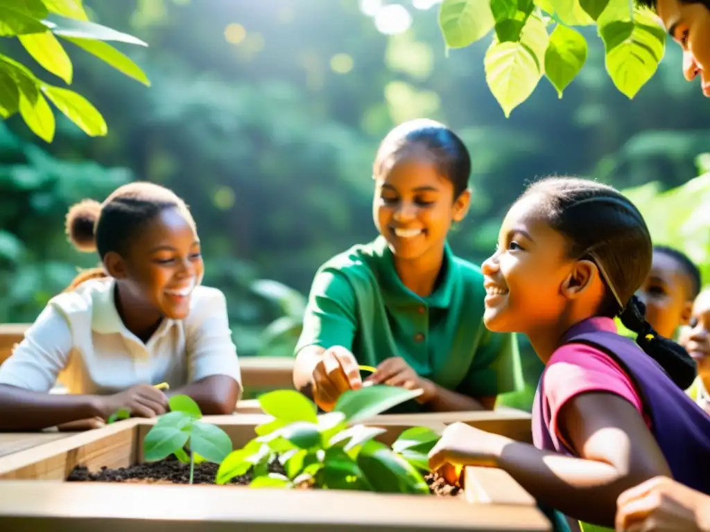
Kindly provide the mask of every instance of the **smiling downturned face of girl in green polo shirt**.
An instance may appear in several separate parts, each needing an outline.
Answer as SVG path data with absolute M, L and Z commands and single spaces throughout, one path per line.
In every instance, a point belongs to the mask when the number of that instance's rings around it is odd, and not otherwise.
M 453 221 L 461 221 L 470 193 L 454 200 L 454 184 L 425 156 L 405 156 L 375 177 L 373 218 L 395 257 L 417 260 L 442 253 Z

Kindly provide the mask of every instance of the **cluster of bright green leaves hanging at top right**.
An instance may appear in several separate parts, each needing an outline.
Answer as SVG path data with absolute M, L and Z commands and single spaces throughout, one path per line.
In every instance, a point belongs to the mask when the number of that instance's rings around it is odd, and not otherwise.
M 486 82 L 506 116 L 542 77 L 562 98 L 588 55 L 574 26 L 596 26 L 606 72 L 629 98 L 655 74 L 665 53 L 665 28 L 630 0 L 444 0 L 439 25 L 449 48 L 493 33 L 484 57 Z

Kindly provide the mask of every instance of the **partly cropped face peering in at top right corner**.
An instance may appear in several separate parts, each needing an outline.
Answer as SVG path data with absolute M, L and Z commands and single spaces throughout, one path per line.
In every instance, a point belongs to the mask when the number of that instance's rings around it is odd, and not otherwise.
M 681 0 L 657 0 L 656 11 L 673 40 L 683 49 L 683 74 L 698 75 L 705 96 L 710 96 L 710 9 Z

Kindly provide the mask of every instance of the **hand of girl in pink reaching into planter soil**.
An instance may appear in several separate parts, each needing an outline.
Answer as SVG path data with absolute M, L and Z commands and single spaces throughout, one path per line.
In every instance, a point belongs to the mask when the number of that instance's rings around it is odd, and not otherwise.
M 448 476 L 451 470 L 449 465 L 497 467 L 498 458 L 509 442 L 505 436 L 481 431 L 465 423 L 452 423 L 430 450 L 429 467 L 444 476 Z

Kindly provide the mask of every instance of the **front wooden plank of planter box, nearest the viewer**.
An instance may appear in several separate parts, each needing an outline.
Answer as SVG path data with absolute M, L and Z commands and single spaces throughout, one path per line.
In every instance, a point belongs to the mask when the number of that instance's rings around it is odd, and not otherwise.
M 461 497 L 94 482 L 1 487 L 2 530 L 550 531 L 535 506 L 469 505 Z

